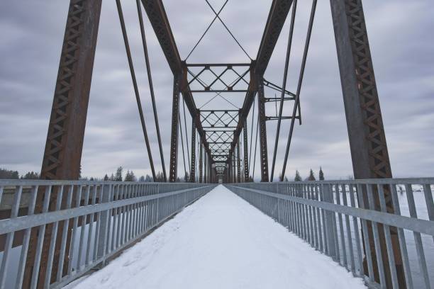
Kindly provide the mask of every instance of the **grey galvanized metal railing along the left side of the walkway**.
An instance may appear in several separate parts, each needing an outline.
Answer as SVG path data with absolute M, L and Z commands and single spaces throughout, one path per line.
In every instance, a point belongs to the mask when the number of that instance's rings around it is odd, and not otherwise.
M 26 287 L 60 288 L 104 266 L 107 259 L 214 187 L 0 180 L 0 288 L 22 288 L 30 267 Z M 38 206 L 37 200 L 43 204 Z M 47 230 L 50 238 L 45 236 Z

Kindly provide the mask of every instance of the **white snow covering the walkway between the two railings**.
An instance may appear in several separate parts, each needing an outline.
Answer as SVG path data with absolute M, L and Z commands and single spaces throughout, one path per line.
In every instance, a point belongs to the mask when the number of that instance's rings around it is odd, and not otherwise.
M 366 288 L 224 186 L 68 289 Z

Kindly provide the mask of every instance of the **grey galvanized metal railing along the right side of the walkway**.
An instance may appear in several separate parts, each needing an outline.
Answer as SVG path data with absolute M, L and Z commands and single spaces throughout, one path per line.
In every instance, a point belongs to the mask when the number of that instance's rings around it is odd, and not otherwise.
M 433 184 L 434 178 L 226 186 L 364 278 L 370 288 L 399 288 L 401 284 L 430 289 L 434 278 Z M 391 200 L 384 198 L 386 191 Z M 387 210 L 387 201 L 393 204 L 393 212 Z M 397 237 L 391 237 L 391 232 Z M 401 272 L 396 263 L 402 263 Z

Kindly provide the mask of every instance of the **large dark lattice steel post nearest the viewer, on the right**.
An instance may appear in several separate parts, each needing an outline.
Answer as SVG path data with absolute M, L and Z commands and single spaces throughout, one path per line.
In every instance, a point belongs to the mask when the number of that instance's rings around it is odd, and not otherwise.
M 330 6 L 355 179 L 389 179 L 392 177 L 391 166 L 362 1 L 330 0 Z M 394 212 L 389 190 L 384 190 L 384 197 L 387 211 Z M 376 206 L 379 207 L 378 198 Z M 380 229 L 379 231 L 382 232 L 383 230 Z M 369 243 L 372 243 L 373 247 L 372 227 L 368 226 L 368 232 L 365 233 L 369 235 Z M 401 278 L 399 285 L 401 288 L 405 288 L 401 251 L 394 227 L 391 227 L 391 239 L 396 256 L 397 275 Z M 374 252 L 374 250 L 372 251 Z M 391 272 L 384 238 L 382 238 L 382 255 L 384 255 L 384 271 L 389 287 L 391 285 Z M 375 259 L 374 253 L 372 257 Z

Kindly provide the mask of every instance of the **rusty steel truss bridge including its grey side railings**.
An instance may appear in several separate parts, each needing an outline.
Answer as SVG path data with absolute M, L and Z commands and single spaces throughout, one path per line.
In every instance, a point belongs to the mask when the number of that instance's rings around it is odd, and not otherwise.
M 223 7 L 227 2 L 223 4 Z M 219 16 L 223 7 L 219 11 L 216 11 L 207 0 L 206 3 L 215 14 L 213 22 L 221 21 L 223 26 L 228 30 L 228 33 L 230 33 L 231 38 L 245 52 L 241 43 L 235 38 L 235 35 L 233 35 Z M 325 238 L 328 232 L 327 242 L 330 243 L 324 243 L 323 247 L 323 241 L 321 241 L 321 251 L 324 251 L 325 254 L 334 252 L 333 254 L 336 255 L 339 251 L 338 247 L 331 247 L 332 244 L 334 246 L 338 242 L 338 235 L 332 236 L 331 234 L 334 231 L 330 231 L 330 229 L 333 230 L 333 225 L 330 225 L 333 223 L 333 219 L 330 219 L 332 216 L 326 214 L 327 220 L 323 219 L 332 227 L 325 228 L 323 232 L 314 234 L 313 229 L 308 232 L 309 227 L 302 227 L 301 223 L 299 223 L 301 220 L 296 218 L 296 212 L 304 214 L 304 209 L 301 210 L 301 208 L 305 208 L 304 206 L 306 206 L 306 208 L 315 208 L 314 212 L 317 212 L 316 209 L 318 209 L 318 214 L 320 215 L 321 210 L 326 210 L 327 212 L 338 212 L 339 214 L 347 214 L 352 217 L 359 217 L 360 220 L 365 220 L 361 228 L 365 233 L 363 235 L 365 239 L 363 239 L 362 248 L 358 248 L 360 256 L 365 256 L 363 260 L 358 259 L 361 263 L 360 268 L 365 267 L 362 275 L 369 276 L 371 283 L 379 283 L 382 285 L 382 288 L 386 288 L 386 286 L 387 288 L 392 288 L 389 287 L 392 285 L 393 288 L 411 288 L 412 285 L 408 282 L 408 264 L 405 257 L 399 257 L 406 254 L 406 252 L 403 252 L 405 248 L 402 246 L 403 236 L 401 231 L 403 230 L 402 228 L 412 229 L 416 235 L 418 234 L 419 237 L 415 235 L 416 240 L 418 240 L 420 239 L 421 232 L 433 234 L 432 221 L 426 221 L 430 222 L 428 224 L 423 223 L 425 227 L 418 227 L 419 223 L 415 223 L 416 221 L 411 222 L 397 217 L 391 223 L 384 219 L 385 215 L 381 215 L 396 212 L 396 206 L 394 206 L 394 193 L 396 192 L 393 185 L 397 183 L 394 183 L 394 181 L 376 183 L 374 180 L 391 179 L 392 174 L 361 0 L 330 0 L 330 6 L 354 176 L 355 179 L 373 180 L 367 183 L 357 183 L 357 181 L 355 183 L 328 183 L 328 191 L 321 191 L 324 190 L 321 183 L 318 186 L 310 186 L 308 184 L 306 186 L 291 185 L 289 188 L 282 188 L 283 191 L 279 191 L 280 189 L 277 189 L 277 186 L 274 187 L 270 183 L 272 181 L 282 181 L 285 176 L 294 126 L 296 122 L 301 124 L 300 96 L 311 31 L 313 29 L 313 20 L 316 13 L 316 0 L 311 1 L 311 13 L 306 31 L 299 77 L 297 85 L 293 89 L 286 87 L 286 79 L 293 46 L 296 0 L 272 1 L 257 55 L 252 59 L 245 52 L 250 59 L 250 62 L 247 63 L 190 63 L 187 60 L 183 60 L 179 55 L 177 43 L 174 40 L 170 21 L 167 18 L 162 0 L 136 0 L 135 4 L 138 8 L 140 34 L 152 100 L 152 111 L 157 131 L 160 163 L 164 181 L 167 183 L 155 184 L 154 187 L 151 184 L 147 184 L 146 186 L 145 184 L 138 184 L 137 186 L 128 184 L 124 187 L 118 183 L 79 183 L 74 181 L 79 179 L 101 4 L 102 0 L 71 0 L 69 4 L 48 137 L 43 155 L 41 177 L 46 181 L 42 181 L 42 183 L 0 183 L 0 196 L 6 191 L 8 184 L 16 186 L 18 192 L 15 195 L 18 196 L 14 198 L 15 201 L 11 201 L 11 218 L 0 220 L 0 232 L 2 237 L 4 237 L 3 244 L 5 248 L 0 268 L 0 278 L 2 280 L 0 288 L 4 288 L 5 285 L 5 268 L 8 260 L 6 253 L 8 249 L 14 246 L 14 242 L 23 244 L 23 248 L 26 249 L 25 254 L 21 256 L 22 266 L 18 272 L 17 288 L 21 288 L 21 286 L 23 288 L 48 288 L 50 286 L 64 285 L 68 281 L 80 276 L 82 272 L 93 268 L 96 264 L 104 263 L 109 256 L 115 254 L 116 251 L 124 249 L 130 243 L 135 242 L 138 237 L 148 232 L 151 227 L 160 224 L 167 217 L 184 208 L 185 205 L 203 196 L 204 193 L 213 188 L 214 185 L 212 183 L 219 181 L 227 183 L 228 188 L 231 188 L 239 196 L 249 200 L 252 205 L 257 206 L 268 215 L 272 215 L 279 222 L 286 224 L 286 227 L 289 226 L 294 232 L 302 234 L 302 237 L 311 242 L 313 246 L 320 248 L 318 236 L 321 234 Z M 140 102 L 140 92 L 135 77 L 135 67 L 133 66 L 121 0 L 116 0 L 116 6 L 135 98 L 138 103 L 138 111 L 152 177 L 156 179 L 152 148 L 150 147 L 148 130 Z M 145 35 L 149 31 L 145 29 L 145 16 L 150 21 L 167 64 L 169 64 L 169 69 L 173 74 L 172 125 L 168 156 L 169 167 L 167 170 L 165 167 L 165 154 L 162 150 L 157 107 L 155 105 L 155 98 L 157 96 L 155 96 L 152 84 L 148 43 Z M 289 21 L 289 35 L 281 35 L 285 21 Z M 206 31 L 208 31 L 212 23 Z M 199 45 L 204 35 L 201 35 L 194 48 Z M 277 40 L 282 36 L 287 38 L 286 57 L 285 60 L 282 60 L 285 64 L 282 74 L 282 84 L 274 84 L 265 79 L 265 72 L 276 47 Z M 274 89 L 278 96 L 266 96 L 265 87 Z M 204 110 L 198 108 L 194 101 L 196 94 L 204 93 L 216 96 L 221 96 L 221 94 L 244 94 L 245 97 L 243 105 L 240 108 L 234 109 L 233 106 L 228 106 L 228 108 L 223 109 Z M 277 115 L 267 115 L 265 103 L 268 102 L 277 103 L 279 107 Z M 284 103 L 289 103 L 292 107 L 291 114 L 283 115 Z M 180 110 L 185 110 L 185 108 L 187 108 L 187 112 L 191 116 L 192 128 L 190 134 L 191 145 L 189 147 L 189 142 L 187 141 L 187 149 L 184 149 L 182 134 L 184 126 L 184 135 L 187 140 L 187 119 L 185 118 L 185 113 L 184 119 L 181 118 L 180 114 Z M 253 115 L 252 119 L 257 118 L 257 128 L 253 128 L 253 122 L 250 125 L 247 119 L 247 115 L 249 114 Z M 284 164 L 278 168 L 276 166 L 277 145 L 282 120 L 289 120 L 290 126 L 283 158 Z M 267 140 L 267 122 L 270 121 L 277 123 L 276 138 L 271 143 L 270 140 Z M 254 132 L 257 132 L 256 135 L 259 137 L 259 142 L 256 140 L 253 142 Z M 174 183 L 177 181 L 179 175 L 183 175 L 179 174 L 178 171 L 180 155 L 179 138 L 181 138 L 182 144 L 184 173 L 186 175 L 187 171 L 189 173 L 189 183 L 184 184 Z M 258 162 L 260 164 L 260 181 L 262 182 L 256 185 L 254 183 L 247 183 L 251 181 L 250 178 L 252 177 L 250 167 L 255 168 L 255 166 L 250 164 L 250 162 L 255 162 L 256 159 L 256 155 L 252 157 L 251 153 L 254 143 L 259 145 L 260 154 Z M 274 147 L 272 149 L 272 156 L 268 155 L 269 145 Z M 188 169 L 185 164 L 185 154 L 187 154 L 189 163 Z M 197 174 L 198 170 L 199 174 Z M 433 181 L 422 182 L 425 190 L 430 190 Z M 413 184 L 411 181 L 405 181 L 404 183 L 407 188 Z M 26 186 L 30 187 L 33 191 Z M 42 190 L 42 188 L 44 189 Z M 16 218 L 18 217 L 19 198 L 21 198 L 23 190 L 30 190 L 29 196 L 32 196 L 29 200 L 30 203 L 28 203 L 27 218 L 30 220 L 30 215 L 35 214 L 35 217 L 51 217 L 49 219 L 51 220 L 50 222 L 35 219 L 31 222 L 29 221 L 30 227 L 19 222 L 16 222 L 15 225 L 11 223 L 11 220 L 18 220 Z M 79 197 L 72 198 L 74 192 L 77 192 L 77 190 L 80 194 Z M 152 190 L 157 191 L 154 192 Z M 357 196 L 359 198 L 362 196 L 359 200 L 364 200 L 366 206 L 368 206 L 368 203 L 372 205 L 372 208 L 369 208 L 372 211 L 378 207 L 378 210 L 383 212 L 380 215 L 377 214 L 372 217 L 363 215 L 365 211 L 362 210 L 364 208 L 362 206 L 357 210 L 350 211 L 341 210 L 340 207 L 330 207 L 330 205 L 322 203 L 324 201 L 333 203 L 332 192 L 338 192 L 339 196 L 340 191 L 347 190 L 357 191 Z M 150 191 L 153 193 L 149 193 Z M 250 196 L 249 192 L 259 195 Z M 321 192 L 324 195 L 321 195 Z M 377 197 L 372 198 L 370 195 L 372 192 Z M 82 197 L 82 194 L 84 194 L 84 197 Z M 157 213 L 158 215 L 154 216 L 152 212 L 150 215 L 146 215 L 148 214 L 148 210 L 140 211 L 142 208 L 154 208 L 152 206 L 157 204 L 156 202 L 160 198 L 167 198 L 167 202 L 169 203 L 158 203 L 160 205 L 155 207 L 160 208 L 160 212 Z M 267 203 L 267 198 L 272 199 L 271 203 Z M 429 196 L 427 198 L 428 211 L 432 213 L 433 200 L 432 198 L 429 200 Z M 286 212 L 289 215 L 273 215 L 276 212 L 269 206 L 274 204 L 274 200 L 276 201 L 275 204 L 284 202 L 286 204 L 284 208 L 288 210 Z M 77 203 L 75 207 L 74 202 Z M 161 207 L 162 204 L 163 207 Z M 151 207 L 148 207 L 148 205 L 151 205 Z M 347 203 L 338 203 L 337 205 L 347 205 Z M 123 208 L 127 209 L 124 210 Z M 291 208 L 294 209 L 294 212 L 291 211 Z M 365 209 L 367 208 L 365 207 Z M 68 210 L 72 215 L 69 215 L 65 220 L 65 218 L 62 218 L 58 214 L 57 211 L 60 210 Z M 128 233 L 126 239 L 120 240 L 120 243 L 114 242 L 111 239 L 111 244 L 108 245 L 106 242 L 109 242 L 109 239 L 106 239 L 106 235 L 109 233 L 107 233 L 108 231 L 104 231 L 104 229 L 107 230 L 107 226 L 111 224 L 109 216 L 115 216 L 116 218 L 118 214 L 127 212 L 143 213 L 143 217 L 152 218 L 154 216 L 155 218 L 150 220 L 149 223 L 146 223 L 148 219 L 146 219 L 145 223 L 139 223 L 138 227 L 135 227 L 135 230 Z M 90 220 L 88 217 L 83 217 L 90 216 L 88 214 L 91 215 Z M 396 215 L 399 215 L 399 213 Z M 80 222 L 82 226 L 86 223 L 93 224 L 94 216 L 95 220 L 98 220 L 97 232 L 101 234 L 98 235 L 99 239 L 97 238 L 92 241 L 95 242 L 95 247 L 93 254 L 89 252 L 87 254 L 87 266 L 74 271 L 70 264 L 68 266 L 69 260 L 67 254 L 65 254 L 65 252 L 69 251 L 70 246 L 74 246 L 74 242 L 71 243 L 70 241 L 71 234 L 75 234 L 77 224 L 79 226 Z M 291 216 L 295 219 L 292 219 Z M 69 220 L 71 221 L 69 222 Z M 339 220 L 340 225 L 342 225 L 342 219 L 340 218 Z M 432 215 L 430 215 L 430 220 L 433 220 Z M 404 221 L 408 221 L 409 223 Z M 325 226 L 324 222 L 314 224 Z M 377 223 L 380 224 L 379 229 L 377 228 Z M 336 230 L 336 227 L 334 229 Z M 20 237 L 13 239 L 14 233 L 15 236 Z M 316 236 L 316 239 L 313 236 Z M 343 237 L 343 234 L 340 234 L 340 236 Z M 362 239 L 362 236 L 360 236 L 360 239 Z M 343 242 L 343 240 L 341 241 Z M 80 248 L 81 246 L 80 244 Z M 380 248 L 382 248 L 382 254 L 378 253 Z M 329 255 L 331 256 L 332 253 Z M 418 251 L 418 253 L 420 253 L 418 255 L 420 259 L 423 258 L 423 249 L 422 251 Z M 395 257 L 393 258 L 393 256 Z M 354 262 L 354 260 L 352 261 Z M 424 261 L 425 259 L 423 259 Z M 346 259 L 345 262 L 347 262 Z M 347 263 L 345 263 L 346 265 Z M 426 270 L 426 264 L 425 266 L 421 266 Z M 354 265 L 352 269 L 354 269 Z M 77 275 L 74 276 L 74 272 L 78 272 Z M 426 285 L 429 287 L 429 278 L 426 282 L 428 282 Z

